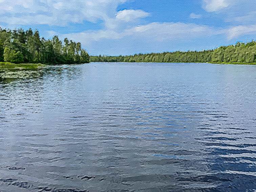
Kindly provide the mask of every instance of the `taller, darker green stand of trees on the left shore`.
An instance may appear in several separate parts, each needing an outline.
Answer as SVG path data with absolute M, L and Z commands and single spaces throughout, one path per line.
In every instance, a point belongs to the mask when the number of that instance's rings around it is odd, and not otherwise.
M 89 55 L 81 43 L 54 36 L 45 40 L 39 31 L 0 28 L 0 61 L 11 63 L 74 64 L 88 63 Z

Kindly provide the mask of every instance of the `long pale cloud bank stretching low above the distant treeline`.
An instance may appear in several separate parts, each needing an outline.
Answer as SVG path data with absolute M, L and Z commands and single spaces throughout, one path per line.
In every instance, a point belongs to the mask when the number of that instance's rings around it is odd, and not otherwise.
M 127 54 L 130 47 L 139 47 L 138 51 L 163 51 L 159 47 L 175 48 L 174 44 L 179 47 L 179 43 L 197 42 L 204 39 L 210 41 L 216 36 L 222 37 L 223 43 L 226 40 L 237 39 L 243 35 L 256 34 L 256 25 L 240 25 L 227 28 L 214 28 L 207 25 L 198 25 L 194 23 L 149 23 L 146 25 L 138 25 L 124 30 L 118 31 L 115 28 L 107 28 L 102 30 L 90 30 L 82 33 L 72 33 L 61 35 L 62 38 L 68 37 L 76 41 L 80 41 L 85 47 L 92 51 L 98 51 L 98 46 L 103 46 L 102 51 L 98 53 L 116 52 L 116 49 L 122 47 L 122 53 Z M 121 43 L 123 42 L 123 43 Z M 178 43 L 177 43 L 178 42 Z M 151 46 L 152 45 L 152 46 Z M 155 46 L 158 46 L 158 49 Z M 146 47 L 145 47 L 146 46 Z M 118 48 L 119 47 L 119 48 Z M 148 47 L 151 47 L 150 49 Z M 176 47 L 176 48 L 177 48 Z M 188 46 L 186 46 L 188 47 Z M 188 47 L 189 48 L 189 47 Z M 204 47 L 205 48 L 205 47 Z M 133 49 L 136 49 L 133 47 Z M 121 51 L 121 50 L 119 50 Z M 134 50 L 130 50 L 134 51 Z

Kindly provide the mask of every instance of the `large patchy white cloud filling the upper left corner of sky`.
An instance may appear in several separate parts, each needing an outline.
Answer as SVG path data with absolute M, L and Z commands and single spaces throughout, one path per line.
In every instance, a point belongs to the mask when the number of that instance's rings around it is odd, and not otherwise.
M 97 22 L 115 17 L 116 8 L 126 0 L 1 0 L 1 21 L 7 24 L 48 24 L 67 26 L 84 20 Z M 38 18 L 43 21 L 38 21 Z

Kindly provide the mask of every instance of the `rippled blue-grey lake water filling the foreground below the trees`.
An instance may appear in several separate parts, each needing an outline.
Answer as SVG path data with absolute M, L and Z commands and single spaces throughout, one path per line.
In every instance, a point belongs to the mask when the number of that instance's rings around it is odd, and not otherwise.
M 91 63 L 0 77 L 1 192 L 256 190 L 256 66 Z

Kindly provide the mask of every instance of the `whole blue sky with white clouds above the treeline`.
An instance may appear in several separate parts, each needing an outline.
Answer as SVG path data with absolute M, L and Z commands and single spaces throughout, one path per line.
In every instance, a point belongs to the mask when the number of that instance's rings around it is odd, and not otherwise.
M 0 0 L 0 26 L 68 37 L 90 55 L 202 50 L 255 40 L 255 7 L 255 0 Z

